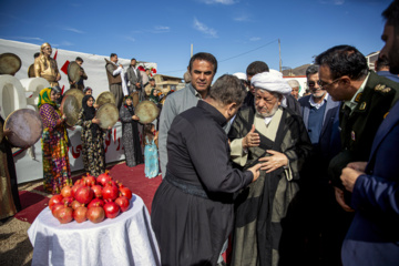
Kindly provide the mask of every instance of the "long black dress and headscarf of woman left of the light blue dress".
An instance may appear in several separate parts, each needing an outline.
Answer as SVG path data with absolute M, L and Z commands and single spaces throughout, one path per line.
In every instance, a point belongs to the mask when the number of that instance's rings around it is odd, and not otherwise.
M 137 121 L 132 120 L 133 115 L 133 105 L 127 105 L 126 102 L 124 102 L 120 110 L 120 117 L 122 122 L 122 143 L 129 167 L 144 163 L 139 135 L 139 126 L 142 125 L 139 124 Z

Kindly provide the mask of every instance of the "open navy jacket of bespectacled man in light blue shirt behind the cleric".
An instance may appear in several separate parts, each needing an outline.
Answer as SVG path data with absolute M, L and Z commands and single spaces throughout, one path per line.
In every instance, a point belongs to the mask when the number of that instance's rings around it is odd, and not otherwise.
M 310 96 L 311 95 L 307 95 L 298 100 L 306 130 L 308 130 L 309 125 L 309 113 L 311 109 L 309 103 Z M 340 151 L 340 137 L 338 132 L 338 111 L 340 102 L 335 102 L 330 95 L 327 95 L 327 102 L 325 104 L 327 105 L 319 137 L 319 151 L 317 153 L 318 155 L 321 155 L 324 160 L 329 161 Z

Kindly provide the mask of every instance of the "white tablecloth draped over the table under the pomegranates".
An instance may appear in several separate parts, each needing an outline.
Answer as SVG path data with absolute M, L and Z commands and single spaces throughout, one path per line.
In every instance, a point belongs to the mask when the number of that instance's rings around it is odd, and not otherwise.
M 28 229 L 32 265 L 160 265 L 160 252 L 143 200 L 133 195 L 129 211 L 99 224 L 60 224 L 47 207 Z

